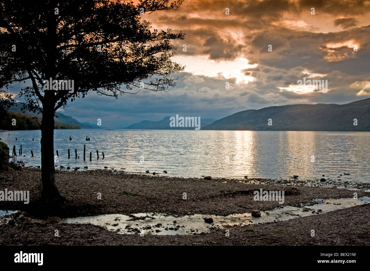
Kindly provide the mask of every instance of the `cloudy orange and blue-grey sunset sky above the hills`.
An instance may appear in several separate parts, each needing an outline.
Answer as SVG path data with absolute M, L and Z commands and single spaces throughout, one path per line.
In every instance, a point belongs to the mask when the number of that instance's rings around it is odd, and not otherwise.
M 176 87 L 167 93 L 144 89 L 117 100 L 91 92 L 70 102 L 64 114 L 123 128 L 176 114 L 219 119 L 272 105 L 344 104 L 370 97 L 369 0 L 185 0 L 177 11 L 142 18 L 155 29 L 186 34 L 174 42 L 173 60 L 186 65 L 174 75 Z M 328 92 L 302 91 L 297 80 L 303 77 L 328 80 Z

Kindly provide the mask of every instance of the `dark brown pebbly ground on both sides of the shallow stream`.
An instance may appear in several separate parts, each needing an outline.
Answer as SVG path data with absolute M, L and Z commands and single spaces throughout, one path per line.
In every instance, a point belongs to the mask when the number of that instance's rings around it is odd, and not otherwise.
M 24 216 L 47 220 L 95 214 L 157 212 L 227 215 L 253 209 L 309 204 L 313 199 L 353 197 L 353 190 L 250 184 L 250 180 L 180 179 L 113 173 L 110 170 L 58 172 L 60 193 L 68 200 L 52 206 L 40 201 L 41 172 L 22 168 L 0 173 L 0 190 L 30 190 L 30 203 L 1 201 L 0 210 L 24 211 Z M 253 191 L 284 190 L 285 203 L 254 201 Z M 183 199 L 183 193 L 187 199 Z M 368 192 L 356 191 L 358 196 Z M 101 193 L 101 200 L 97 194 Z M 90 224 L 29 223 L 20 213 L 0 226 L 0 245 L 369 245 L 370 204 L 331 211 L 316 216 L 249 226 L 228 227 L 189 236 L 117 234 Z M 33 221 L 32 221 L 33 222 Z M 59 236 L 54 236 L 55 230 Z M 315 236 L 311 236 L 311 231 Z

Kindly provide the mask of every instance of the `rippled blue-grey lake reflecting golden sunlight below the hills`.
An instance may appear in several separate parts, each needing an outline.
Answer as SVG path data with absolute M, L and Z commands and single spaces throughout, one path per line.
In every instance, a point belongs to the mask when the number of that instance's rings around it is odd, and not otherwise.
M 22 145 L 26 157 L 17 159 L 28 162 L 26 166 L 40 165 L 41 131 L 10 131 L 10 136 L 8 132 L 0 131 L 0 138 L 10 152 L 16 145 L 18 153 Z M 91 141 L 86 141 L 86 136 Z M 55 155 L 59 152 L 55 165 L 65 167 L 108 166 L 141 173 L 167 170 L 170 176 L 272 179 L 287 179 L 293 174 L 300 179 L 320 178 L 322 174 L 337 179 L 340 173 L 349 172 L 350 176 L 342 176 L 343 181 L 370 182 L 369 132 L 78 129 L 54 130 L 54 137 Z M 80 156 L 77 160 L 74 149 Z M 31 157 L 31 150 L 35 157 Z M 311 162 L 312 156 L 315 162 Z

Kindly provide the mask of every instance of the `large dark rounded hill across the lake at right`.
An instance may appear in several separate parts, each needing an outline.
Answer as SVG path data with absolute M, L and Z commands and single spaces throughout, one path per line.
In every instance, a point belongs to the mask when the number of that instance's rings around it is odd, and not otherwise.
M 268 125 L 268 120 L 272 125 Z M 357 126 L 353 125 L 357 119 Z M 370 131 L 370 98 L 349 104 L 296 104 L 240 111 L 204 130 Z

